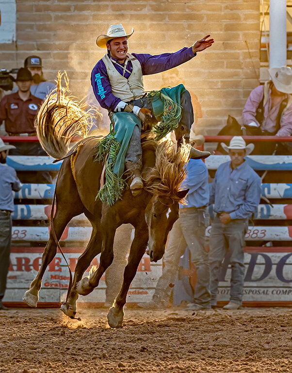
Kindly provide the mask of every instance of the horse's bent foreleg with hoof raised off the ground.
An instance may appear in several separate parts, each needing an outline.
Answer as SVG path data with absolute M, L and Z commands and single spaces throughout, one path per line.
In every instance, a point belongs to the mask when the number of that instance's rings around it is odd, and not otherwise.
M 102 250 L 99 266 L 87 277 L 83 277 L 77 284 L 77 292 L 80 295 L 87 295 L 98 286 L 99 280 L 106 269 L 112 264 L 114 259 L 114 234 L 115 229 L 105 230 L 103 232 Z

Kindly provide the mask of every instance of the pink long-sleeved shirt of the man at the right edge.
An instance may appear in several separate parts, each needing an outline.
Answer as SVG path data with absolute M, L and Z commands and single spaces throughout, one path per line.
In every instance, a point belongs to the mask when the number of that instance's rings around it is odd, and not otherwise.
M 263 96 L 264 86 L 259 85 L 253 89 L 245 103 L 243 109 L 243 124 L 249 125 L 251 122 L 255 122 L 257 126 L 260 126 L 260 123 L 256 120 L 256 111 L 260 104 L 260 101 Z M 268 132 L 276 131 L 276 119 L 280 109 L 281 102 L 278 102 L 271 109 L 271 89 L 269 89 L 268 100 L 264 105 L 264 119 L 260 126 L 262 130 Z M 280 122 L 280 129 L 276 133 L 276 136 L 291 136 L 292 134 L 292 105 L 284 112 Z

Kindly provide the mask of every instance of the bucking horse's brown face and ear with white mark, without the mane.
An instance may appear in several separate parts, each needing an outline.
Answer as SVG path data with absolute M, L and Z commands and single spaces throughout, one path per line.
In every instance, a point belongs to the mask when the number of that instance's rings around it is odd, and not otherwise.
M 189 189 L 178 191 L 178 198 L 187 195 Z M 162 258 L 168 233 L 178 220 L 178 202 L 169 197 L 152 196 L 145 210 L 145 220 L 148 225 L 148 254 L 151 262 Z

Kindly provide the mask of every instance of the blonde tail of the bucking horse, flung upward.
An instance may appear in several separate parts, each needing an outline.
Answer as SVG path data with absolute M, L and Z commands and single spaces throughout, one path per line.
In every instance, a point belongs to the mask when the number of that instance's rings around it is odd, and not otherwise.
M 64 77 L 65 86 L 62 86 Z M 56 88 L 41 105 L 35 121 L 36 133 L 43 149 L 53 158 L 60 159 L 69 151 L 74 136 L 87 137 L 92 114 L 86 105 L 70 96 L 66 72 L 58 72 Z

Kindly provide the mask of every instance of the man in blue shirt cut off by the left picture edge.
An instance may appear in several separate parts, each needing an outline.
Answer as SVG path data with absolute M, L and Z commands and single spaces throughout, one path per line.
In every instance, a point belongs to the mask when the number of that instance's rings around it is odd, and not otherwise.
M 21 188 L 16 171 L 6 164 L 9 149 L 15 149 L 15 146 L 5 145 L 0 138 L 0 310 L 7 309 L 2 299 L 6 288 L 11 247 L 11 213 L 14 211 L 12 191 L 18 192 Z

